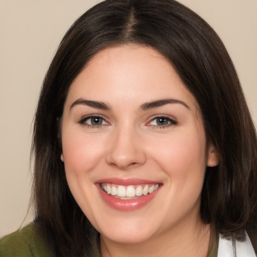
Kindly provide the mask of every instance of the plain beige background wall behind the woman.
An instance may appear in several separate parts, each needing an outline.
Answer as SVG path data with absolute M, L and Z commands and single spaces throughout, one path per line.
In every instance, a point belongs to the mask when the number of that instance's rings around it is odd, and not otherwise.
M 0 0 L 0 236 L 28 209 L 32 120 L 65 31 L 96 0 Z M 257 123 L 257 0 L 181 0 L 220 35 Z M 24 224 L 32 220 L 29 214 Z

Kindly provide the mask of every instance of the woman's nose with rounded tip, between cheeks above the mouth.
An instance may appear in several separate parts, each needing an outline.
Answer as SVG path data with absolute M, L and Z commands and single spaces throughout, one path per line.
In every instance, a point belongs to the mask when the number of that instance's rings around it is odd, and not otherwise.
M 142 137 L 135 128 L 116 129 L 109 138 L 110 148 L 106 162 L 120 170 L 138 167 L 146 162 L 146 152 Z

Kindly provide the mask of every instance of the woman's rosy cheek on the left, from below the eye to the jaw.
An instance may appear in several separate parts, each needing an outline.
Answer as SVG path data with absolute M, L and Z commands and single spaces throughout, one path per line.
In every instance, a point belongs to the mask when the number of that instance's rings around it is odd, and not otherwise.
M 62 149 L 66 179 L 73 197 L 84 213 L 91 219 L 91 206 L 95 188 L 91 183 L 92 170 L 99 163 L 99 142 L 90 141 L 84 133 L 78 133 L 66 126 L 62 132 Z M 89 209 L 89 210 L 88 210 Z

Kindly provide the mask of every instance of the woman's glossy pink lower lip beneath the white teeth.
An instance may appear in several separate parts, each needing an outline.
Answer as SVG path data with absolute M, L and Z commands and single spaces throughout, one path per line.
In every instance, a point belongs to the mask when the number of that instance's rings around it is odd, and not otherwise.
M 140 196 L 135 199 L 129 199 L 129 200 L 122 200 L 119 198 L 115 198 L 114 196 L 108 195 L 105 193 L 99 184 L 96 184 L 98 191 L 100 193 L 100 196 L 104 200 L 104 202 L 111 208 L 119 210 L 119 211 L 134 211 L 137 209 L 142 208 L 146 204 L 148 204 L 153 198 L 157 195 L 159 192 L 160 186 L 158 189 L 156 189 L 153 193 Z

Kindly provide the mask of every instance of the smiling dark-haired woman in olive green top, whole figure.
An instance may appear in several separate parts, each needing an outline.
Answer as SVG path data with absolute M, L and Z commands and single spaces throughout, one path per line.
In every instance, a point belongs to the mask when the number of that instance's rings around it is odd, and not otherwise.
M 221 40 L 176 1 L 104 1 L 73 24 L 33 153 L 36 219 L 5 256 L 255 255 L 254 126 Z

